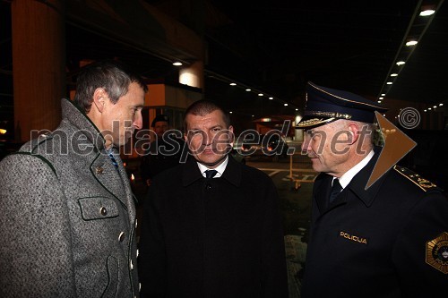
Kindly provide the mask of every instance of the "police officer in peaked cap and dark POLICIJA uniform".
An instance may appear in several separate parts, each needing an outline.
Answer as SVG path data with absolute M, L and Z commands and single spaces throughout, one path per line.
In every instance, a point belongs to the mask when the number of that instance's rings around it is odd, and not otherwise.
M 448 201 L 393 166 L 366 189 L 381 149 L 375 110 L 358 95 L 309 82 L 303 150 L 314 182 L 302 297 L 429 297 L 448 288 Z

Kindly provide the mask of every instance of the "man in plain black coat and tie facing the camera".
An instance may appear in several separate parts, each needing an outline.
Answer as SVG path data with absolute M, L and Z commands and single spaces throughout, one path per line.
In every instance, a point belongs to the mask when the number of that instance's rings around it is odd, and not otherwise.
M 156 176 L 145 201 L 139 276 L 147 297 L 287 297 L 271 178 L 228 155 L 229 117 L 210 101 L 185 112 L 192 157 Z

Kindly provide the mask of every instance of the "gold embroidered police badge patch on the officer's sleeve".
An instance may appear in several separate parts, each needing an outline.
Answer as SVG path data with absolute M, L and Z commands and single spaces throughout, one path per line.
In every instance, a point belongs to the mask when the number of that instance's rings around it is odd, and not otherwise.
M 448 233 L 439 234 L 426 243 L 426 264 L 448 274 Z

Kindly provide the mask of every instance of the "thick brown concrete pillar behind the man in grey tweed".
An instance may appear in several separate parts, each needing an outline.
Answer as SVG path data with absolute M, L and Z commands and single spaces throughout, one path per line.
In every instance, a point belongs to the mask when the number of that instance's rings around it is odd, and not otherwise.
M 54 130 L 65 97 L 64 0 L 13 0 L 15 139 Z

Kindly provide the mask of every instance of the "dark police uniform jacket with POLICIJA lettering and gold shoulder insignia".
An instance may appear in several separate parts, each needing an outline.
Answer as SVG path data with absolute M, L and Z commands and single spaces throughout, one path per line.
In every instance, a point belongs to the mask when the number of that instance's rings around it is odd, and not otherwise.
M 330 206 L 332 176 L 316 178 L 302 297 L 446 295 L 448 201 L 400 166 L 365 190 L 376 159 Z

